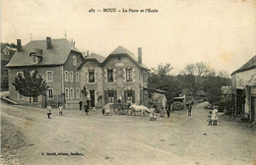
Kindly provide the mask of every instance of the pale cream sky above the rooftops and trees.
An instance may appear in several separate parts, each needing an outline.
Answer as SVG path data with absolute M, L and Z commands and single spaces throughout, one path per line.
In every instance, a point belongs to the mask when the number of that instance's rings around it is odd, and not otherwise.
M 256 0 L 1 0 L 2 42 L 65 33 L 79 50 L 102 56 L 119 45 L 136 55 L 142 47 L 144 64 L 169 63 L 173 74 L 197 62 L 231 74 L 256 55 Z

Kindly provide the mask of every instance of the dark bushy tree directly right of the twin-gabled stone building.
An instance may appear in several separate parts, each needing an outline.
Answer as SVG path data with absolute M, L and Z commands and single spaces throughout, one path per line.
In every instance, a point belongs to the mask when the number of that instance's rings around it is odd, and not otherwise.
M 166 91 L 167 103 L 173 101 L 173 97 L 181 92 L 177 79 L 170 74 L 173 68 L 170 64 L 159 64 L 157 69 L 152 68 L 149 77 L 149 88 Z

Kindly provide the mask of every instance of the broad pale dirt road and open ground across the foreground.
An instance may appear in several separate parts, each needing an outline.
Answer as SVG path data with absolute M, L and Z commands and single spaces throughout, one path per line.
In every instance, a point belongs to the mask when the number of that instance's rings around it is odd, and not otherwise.
M 205 103 L 156 122 L 100 111 L 53 110 L 1 104 L 2 164 L 254 164 L 255 131 L 220 117 L 208 126 Z

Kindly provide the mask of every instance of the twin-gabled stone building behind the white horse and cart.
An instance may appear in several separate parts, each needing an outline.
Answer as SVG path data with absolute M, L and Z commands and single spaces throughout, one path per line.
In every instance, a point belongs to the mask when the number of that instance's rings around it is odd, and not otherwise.
M 142 63 L 142 49 L 138 58 L 122 46 L 118 46 L 106 58 L 91 54 L 79 66 L 81 88 L 87 89 L 91 106 L 106 103 L 132 101 L 148 104 L 144 88 L 148 87 L 149 69 Z

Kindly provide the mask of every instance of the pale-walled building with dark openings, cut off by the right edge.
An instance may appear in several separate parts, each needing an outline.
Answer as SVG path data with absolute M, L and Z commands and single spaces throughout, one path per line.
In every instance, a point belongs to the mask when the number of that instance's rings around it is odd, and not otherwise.
M 256 56 L 231 74 L 235 96 L 235 116 L 255 121 L 256 117 Z

